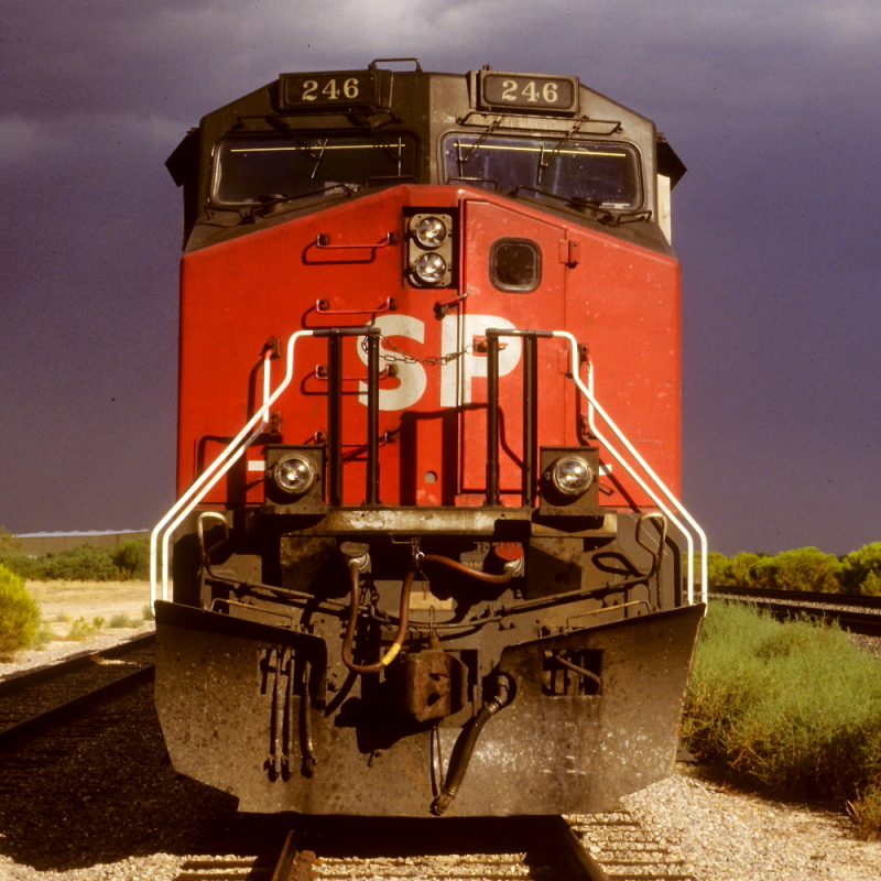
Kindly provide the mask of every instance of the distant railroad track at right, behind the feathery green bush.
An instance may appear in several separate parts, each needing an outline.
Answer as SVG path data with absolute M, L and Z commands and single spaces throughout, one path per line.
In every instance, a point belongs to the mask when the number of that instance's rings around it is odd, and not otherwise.
M 837 621 L 851 633 L 881 637 L 881 597 L 760 588 L 713 590 L 709 596 L 710 599 L 724 599 L 727 602 L 752 602 L 768 609 L 776 618 L 806 613 Z

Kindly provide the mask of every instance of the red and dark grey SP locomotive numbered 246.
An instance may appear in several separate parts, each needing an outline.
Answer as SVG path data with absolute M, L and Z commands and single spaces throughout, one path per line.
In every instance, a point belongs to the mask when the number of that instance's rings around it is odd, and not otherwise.
M 575 76 L 379 59 L 282 74 L 167 166 L 174 768 L 244 812 L 409 817 L 668 775 L 706 540 L 654 124 Z

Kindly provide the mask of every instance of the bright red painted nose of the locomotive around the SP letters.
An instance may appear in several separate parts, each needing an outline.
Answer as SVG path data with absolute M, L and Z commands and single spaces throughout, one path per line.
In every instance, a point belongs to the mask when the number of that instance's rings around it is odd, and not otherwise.
M 458 209 L 459 292 L 414 289 L 405 281 L 402 211 L 406 207 Z M 389 232 L 395 233 L 395 242 L 374 247 Z M 359 247 L 316 247 L 318 236 L 326 236 L 331 246 Z M 504 293 L 492 285 L 489 249 L 502 237 L 540 244 L 542 281 L 536 291 Z M 449 320 L 455 322 L 457 314 L 466 320 L 497 316 L 520 328 L 565 329 L 588 344 L 598 400 L 678 492 L 679 303 L 678 267 L 672 258 L 491 193 L 401 186 L 187 254 L 181 284 L 181 492 L 259 407 L 262 351 L 271 337 L 278 337 L 284 350 L 295 330 L 360 325 L 381 315 L 380 324 L 396 323 L 410 331 L 410 336 L 387 334 L 403 351 L 421 359 L 438 357 L 445 325 L 435 304 L 455 300 L 458 293 L 467 296 L 449 307 Z M 395 301 L 396 311 L 376 312 L 385 309 L 389 298 Z M 316 309 L 318 301 L 327 301 L 327 311 Z M 420 334 L 422 340 L 413 338 Z M 356 346 L 355 339 L 344 340 L 346 504 L 360 504 L 365 492 L 359 445 L 365 442 L 367 411 L 359 400 L 358 378 L 366 376 L 366 367 Z M 578 413 L 586 405 L 564 376 L 565 349 L 563 340 L 539 342 L 539 446 L 579 444 Z M 472 380 L 471 406 L 459 416 L 455 409 L 442 406 L 442 376 L 449 377 L 449 369 L 445 373 L 440 366 L 394 363 L 416 380 L 424 373 L 425 389 L 405 410 L 380 413 L 380 434 L 393 438 L 380 448 L 382 502 L 481 504 L 486 380 Z M 281 413 L 281 438 L 261 438 L 248 452 L 248 460 L 261 460 L 268 440 L 307 444 L 327 431 L 327 383 L 320 370 L 316 373 L 316 367 L 325 365 L 325 340 L 305 339 L 298 345 L 294 382 L 273 406 Z M 283 373 L 283 359 L 273 360 L 273 388 Z M 380 382 L 383 396 L 400 395 L 401 388 L 400 376 Z M 513 505 L 520 504 L 521 388 L 518 365 L 500 383 L 502 500 Z M 613 476 L 626 491 L 648 501 L 619 472 L 616 466 Z M 261 477 L 240 463 L 208 501 L 259 503 Z M 624 503 L 618 492 L 600 498 L 605 504 Z

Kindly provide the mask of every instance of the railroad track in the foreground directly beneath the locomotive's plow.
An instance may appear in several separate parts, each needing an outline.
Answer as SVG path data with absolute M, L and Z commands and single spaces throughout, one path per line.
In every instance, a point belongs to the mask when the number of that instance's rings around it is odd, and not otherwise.
M 304 818 L 303 826 L 287 834 L 274 864 L 192 858 L 175 881 L 696 881 L 627 812 L 568 822 Z

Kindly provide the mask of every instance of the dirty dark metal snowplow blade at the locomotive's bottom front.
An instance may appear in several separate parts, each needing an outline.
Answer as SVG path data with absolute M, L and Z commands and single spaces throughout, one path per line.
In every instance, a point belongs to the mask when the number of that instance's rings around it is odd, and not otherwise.
M 703 614 L 683 607 L 504 649 L 513 698 L 483 728 L 449 815 L 596 813 L 670 775 Z M 156 708 L 178 772 L 244 812 L 428 815 L 463 729 L 401 726 L 345 689 L 325 693 L 338 645 L 171 602 L 156 603 Z M 598 694 L 543 685 L 559 651 L 601 657 Z

